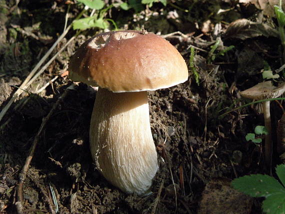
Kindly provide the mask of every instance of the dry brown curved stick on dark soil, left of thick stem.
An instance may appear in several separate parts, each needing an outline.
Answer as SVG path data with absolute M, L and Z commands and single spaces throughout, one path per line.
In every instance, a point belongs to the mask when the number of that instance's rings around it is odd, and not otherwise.
M 61 96 L 58 97 L 58 99 L 56 100 L 56 102 L 54 103 L 54 105 L 52 106 L 51 110 L 49 111 L 49 113 L 46 115 L 46 117 L 43 118 L 42 123 L 39 127 L 39 130 L 37 132 L 37 134 L 35 135 L 33 142 L 32 142 L 32 146 L 29 150 L 29 154 L 26 157 L 24 166 L 21 170 L 21 172 L 18 175 L 18 185 L 16 187 L 16 202 L 15 202 L 15 206 L 16 206 L 16 210 L 18 214 L 23 214 L 23 206 L 22 206 L 22 201 L 23 201 L 23 181 L 26 177 L 26 173 L 28 170 L 28 166 L 29 163 L 32 159 L 35 147 L 37 145 L 37 142 L 39 141 L 39 137 L 43 131 L 43 129 L 45 128 L 45 125 L 47 123 L 47 121 L 49 120 L 50 116 L 53 114 L 54 110 L 56 109 L 56 107 L 58 106 L 58 104 L 61 102 L 61 100 L 63 100 L 63 98 L 66 96 L 68 90 L 65 90 Z

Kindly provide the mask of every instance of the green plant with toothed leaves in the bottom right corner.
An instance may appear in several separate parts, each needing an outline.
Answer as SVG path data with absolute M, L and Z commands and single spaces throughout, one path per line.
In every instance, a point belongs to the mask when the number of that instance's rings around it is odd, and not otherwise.
M 238 177 L 231 182 L 233 188 L 252 197 L 265 197 L 262 210 L 270 214 L 285 213 L 285 164 L 276 166 L 280 182 L 265 174 L 251 174 Z

